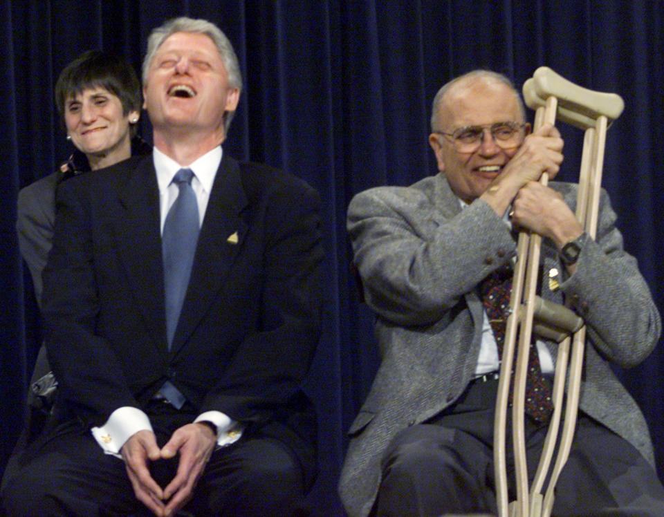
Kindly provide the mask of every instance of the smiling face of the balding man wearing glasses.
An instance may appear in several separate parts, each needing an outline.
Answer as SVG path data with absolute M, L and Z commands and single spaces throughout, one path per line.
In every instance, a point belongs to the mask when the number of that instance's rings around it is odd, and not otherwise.
M 450 86 L 441 102 L 436 130 L 452 133 L 461 127 L 508 121 L 524 122 L 515 92 L 495 79 L 475 77 Z M 502 149 L 488 131 L 472 153 L 459 152 L 452 138 L 439 133 L 432 133 L 429 142 L 439 171 L 466 203 L 481 196 L 519 149 Z

